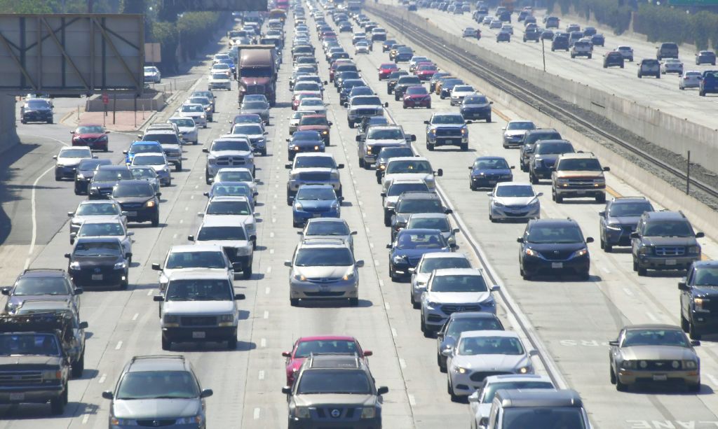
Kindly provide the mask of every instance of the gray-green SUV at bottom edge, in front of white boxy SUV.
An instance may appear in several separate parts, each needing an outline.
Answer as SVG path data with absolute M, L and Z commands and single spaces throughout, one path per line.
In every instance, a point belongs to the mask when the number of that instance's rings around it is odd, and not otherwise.
M 206 428 L 205 398 L 195 370 L 182 355 L 135 356 L 125 365 L 115 390 L 102 392 L 111 400 L 110 427 L 128 425 Z

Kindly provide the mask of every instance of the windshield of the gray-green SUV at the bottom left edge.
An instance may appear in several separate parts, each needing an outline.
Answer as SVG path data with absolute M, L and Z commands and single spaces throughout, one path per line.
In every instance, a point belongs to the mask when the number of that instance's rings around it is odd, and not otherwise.
M 187 371 L 130 371 L 122 377 L 118 400 L 193 399 L 200 396 L 195 377 Z

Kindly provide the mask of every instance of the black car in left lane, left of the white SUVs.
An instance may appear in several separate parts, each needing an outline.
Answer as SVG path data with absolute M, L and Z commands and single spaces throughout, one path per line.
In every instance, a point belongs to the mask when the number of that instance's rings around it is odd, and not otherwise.
M 129 259 L 118 238 L 80 237 L 68 259 L 67 272 L 82 286 L 118 286 L 127 289 Z

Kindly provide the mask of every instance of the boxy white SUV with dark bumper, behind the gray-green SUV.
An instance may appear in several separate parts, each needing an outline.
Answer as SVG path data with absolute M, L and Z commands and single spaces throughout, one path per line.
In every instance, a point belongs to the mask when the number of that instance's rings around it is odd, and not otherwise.
M 154 296 L 159 302 L 162 326 L 162 350 L 173 342 L 227 342 L 237 347 L 239 322 L 232 281 L 226 273 L 213 270 L 175 272 L 169 276 L 164 294 Z

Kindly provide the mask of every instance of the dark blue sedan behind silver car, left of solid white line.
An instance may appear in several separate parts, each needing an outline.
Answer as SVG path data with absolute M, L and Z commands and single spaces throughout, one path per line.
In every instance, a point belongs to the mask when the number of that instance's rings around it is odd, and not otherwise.
M 431 252 L 449 252 L 456 248 L 449 244 L 438 229 L 409 228 L 402 229 L 396 234 L 389 249 L 389 276 L 393 281 L 411 276 L 419 259 Z

